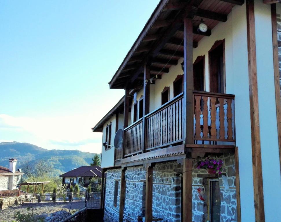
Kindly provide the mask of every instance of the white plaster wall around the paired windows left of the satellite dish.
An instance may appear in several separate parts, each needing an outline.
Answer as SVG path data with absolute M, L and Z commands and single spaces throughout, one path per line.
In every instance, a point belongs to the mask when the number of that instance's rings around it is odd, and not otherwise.
M 116 119 L 115 115 L 112 116 L 106 123 L 103 125 L 103 130 L 102 130 L 102 143 L 105 142 L 105 136 L 106 136 L 106 126 L 109 123 L 112 123 L 111 125 L 111 144 L 113 145 L 114 142 L 114 137 L 115 137 L 115 124 L 116 124 Z M 105 147 L 102 145 L 102 160 L 101 160 L 101 167 L 111 167 L 114 166 L 114 147 L 111 147 L 109 150 L 105 151 Z

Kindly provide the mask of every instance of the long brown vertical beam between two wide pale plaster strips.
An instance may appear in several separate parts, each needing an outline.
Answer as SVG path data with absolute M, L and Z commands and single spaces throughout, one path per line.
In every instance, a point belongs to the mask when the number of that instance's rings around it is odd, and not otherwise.
M 256 221 L 264 222 L 254 0 L 246 1 L 246 12 L 255 217 Z

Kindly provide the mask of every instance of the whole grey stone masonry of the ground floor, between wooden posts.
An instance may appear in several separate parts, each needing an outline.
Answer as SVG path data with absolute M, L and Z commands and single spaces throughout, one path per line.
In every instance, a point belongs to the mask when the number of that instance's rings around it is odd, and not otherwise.
M 223 174 L 214 177 L 205 169 L 197 169 L 197 162 L 207 157 L 193 159 L 192 170 L 192 221 L 206 222 L 210 220 L 209 180 L 218 179 L 221 192 L 220 222 L 236 222 L 236 181 L 234 155 L 210 156 L 224 161 Z M 177 161 L 159 163 L 153 167 L 153 217 L 162 218 L 165 222 L 181 221 L 181 175 L 182 167 Z M 104 221 L 119 221 L 121 169 L 107 170 Z M 114 184 L 118 181 L 117 206 L 113 206 Z M 137 217 L 145 216 L 146 171 L 143 166 L 128 167 L 125 172 L 126 190 L 124 220 L 137 221 Z M 203 198 L 199 199 L 198 188 L 204 188 Z

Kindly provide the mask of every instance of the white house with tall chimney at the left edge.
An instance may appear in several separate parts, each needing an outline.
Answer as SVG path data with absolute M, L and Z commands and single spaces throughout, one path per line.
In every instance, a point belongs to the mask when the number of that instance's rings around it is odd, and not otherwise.
M 7 196 L 17 196 L 19 190 L 17 184 L 21 182 L 23 173 L 21 169 L 16 171 L 17 159 L 9 159 L 9 168 L 0 166 L 0 198 Z

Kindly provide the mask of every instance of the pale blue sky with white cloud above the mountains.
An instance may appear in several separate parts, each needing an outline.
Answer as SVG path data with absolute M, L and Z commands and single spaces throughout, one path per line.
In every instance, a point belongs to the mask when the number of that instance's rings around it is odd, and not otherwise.
M 100 153 L 108 82 L 158 1 L 0 1 L 0 142 Z

